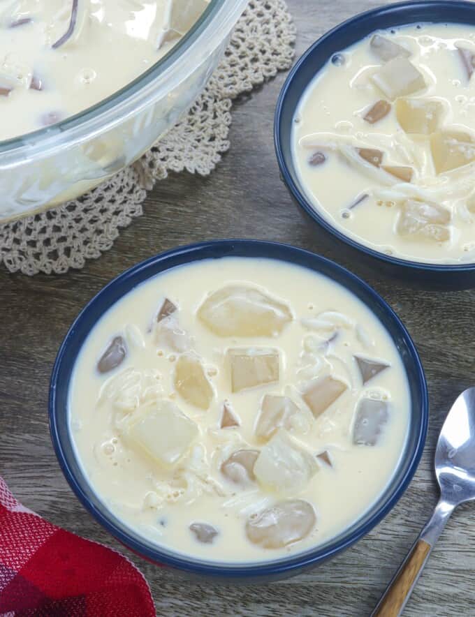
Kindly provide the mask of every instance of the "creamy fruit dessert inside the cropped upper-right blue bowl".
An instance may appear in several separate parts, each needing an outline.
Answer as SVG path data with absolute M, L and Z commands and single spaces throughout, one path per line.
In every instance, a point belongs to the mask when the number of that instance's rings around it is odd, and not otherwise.
M 475 29 L 378 31 L 302 96 L 293 156 L 307 198 L 375 251 L 475 261 Z

